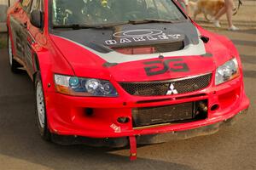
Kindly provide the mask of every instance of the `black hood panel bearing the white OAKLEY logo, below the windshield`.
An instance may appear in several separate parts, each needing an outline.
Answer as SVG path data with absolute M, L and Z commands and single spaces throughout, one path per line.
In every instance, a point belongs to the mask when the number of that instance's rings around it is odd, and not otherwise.
M 52 30 L 52 34 L 77 42 L 99 53 L 107 54 L 115 48 L 129 48 L 145 45 L 161 46 L 165 50 L 179 50 L 189 44 L 198 44 L 199 35 L 195 26 L 186 20 L 181 23 L 151 23 L 113 26 L 104 29 Z M 170 44 L 177 48 L 169 49 Z

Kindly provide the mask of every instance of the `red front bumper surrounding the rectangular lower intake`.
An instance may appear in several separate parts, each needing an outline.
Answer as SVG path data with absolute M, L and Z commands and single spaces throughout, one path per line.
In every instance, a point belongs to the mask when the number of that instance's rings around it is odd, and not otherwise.
M 117 89 L 119 98 L 79 98 L 46 91 L 45 102 L 49 130 L 57 135 L 81 136 L 87 139 L 122 139 L 137 136 L 137 141 L 140 141 L 144 139 L 139 136 L 149 138 L 157 133 L 176 134 L 177 132 L 189 132 L 199 127 L 214 127 L 241 111 L 247 110 L 249 100 L 244 93 L 241 77 L 218 87 L 212 86 L 212 83 L 208 88 L 195 93 L 161 97 L 131 96 L 121 88 Z M 207 99 L 208 108 L 212 105 L 219 105 L 218 110 L 209 110 L 207 118 L 203 120 L 143 128 L 132 127 L 132 122 L 120 124 L 117 121 L 120 116 L 129 117 L 132 120 L 133 108 L 176 105 L 203 99 Z M 91 108 L 94 111 L 93 115 L 85 114 L 86 110 Z M 196 133 L 196 135 L 201 133 Z M 145 143 L 150 143 L 150 140 L 148 141 Z

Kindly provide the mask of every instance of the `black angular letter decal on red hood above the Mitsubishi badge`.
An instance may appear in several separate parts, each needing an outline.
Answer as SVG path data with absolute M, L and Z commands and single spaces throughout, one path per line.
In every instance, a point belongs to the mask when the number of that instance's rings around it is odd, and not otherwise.
M 144 62 L 144 65 L 150 65 L 144 68 L 148 77 L 172 72 L 188 72 L 189 66 L 183 62 L 182 58 L 154 60 Z

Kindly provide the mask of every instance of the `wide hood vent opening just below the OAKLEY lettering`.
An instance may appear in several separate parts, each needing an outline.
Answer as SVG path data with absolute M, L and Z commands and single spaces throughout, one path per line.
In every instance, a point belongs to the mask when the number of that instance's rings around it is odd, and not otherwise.
M 155 53 L 167 53 L 172 51 L 178 51 L 184 48 L 183 41 L 181 42 L 166 42 L 156 43 L 145 46 L 136 47 L 113 47 L 112 49 L 120 54 L 155 54 Z

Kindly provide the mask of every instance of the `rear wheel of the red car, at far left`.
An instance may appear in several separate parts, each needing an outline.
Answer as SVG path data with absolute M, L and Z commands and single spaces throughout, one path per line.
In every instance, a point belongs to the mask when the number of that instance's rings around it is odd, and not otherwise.
M 9 54 L 9 66 L 11 71 L 15 73 L 19 73 L 20 64 L 14 59 L 13 46 L 12 46 L 10 36 L 8 37 L 8 54 Z

